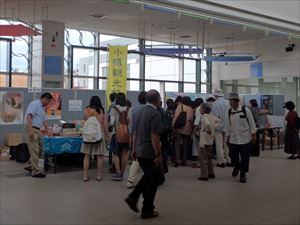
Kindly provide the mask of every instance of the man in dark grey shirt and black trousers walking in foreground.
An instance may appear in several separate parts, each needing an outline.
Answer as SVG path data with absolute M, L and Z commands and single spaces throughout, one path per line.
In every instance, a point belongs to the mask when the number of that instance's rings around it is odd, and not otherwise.
M 160 94 L 156 90 L 150 90 L 146 95 L 146 100 L 146 106 L 138 113 L 134 135 L 135 155 L 144 175 L 125 199 L 130 209 L 134 212 L 139 212 L 137 203 L 140 195 L 143 194 L 142 219 L 158 216 L 158 212 L 154 211 L 155 206 L 153 203 L 157 187 L 164 180 L 160 170 L 160 130 L 162 123 L 162 117 L 158 111 Z

